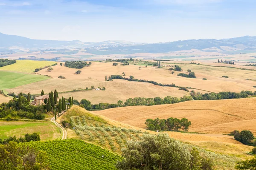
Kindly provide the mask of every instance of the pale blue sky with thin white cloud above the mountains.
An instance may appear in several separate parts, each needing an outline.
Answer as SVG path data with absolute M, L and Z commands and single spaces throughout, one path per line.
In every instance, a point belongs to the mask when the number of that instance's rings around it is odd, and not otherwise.
M 255 8 L 256 0 L 0 0 L 0 32 L 84 42 L 255 36 Z

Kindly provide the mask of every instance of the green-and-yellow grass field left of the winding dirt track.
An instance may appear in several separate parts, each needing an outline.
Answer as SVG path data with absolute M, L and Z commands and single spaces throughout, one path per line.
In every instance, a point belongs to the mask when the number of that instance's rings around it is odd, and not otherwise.
M 61 139 L 62 131 L 53 122 L 0 121 L 0 139 L 19 138 L 26 133 L 39 133 L 41 140 Z

